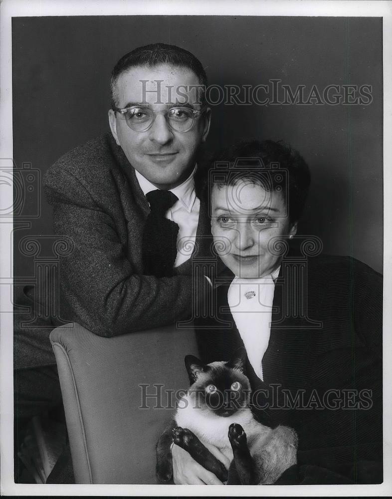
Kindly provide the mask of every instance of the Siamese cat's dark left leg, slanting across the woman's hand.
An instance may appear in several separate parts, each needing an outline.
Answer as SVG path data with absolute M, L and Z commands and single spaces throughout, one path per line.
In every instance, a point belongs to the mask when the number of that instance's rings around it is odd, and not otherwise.
M 173 429 L 174 443 L 182 447 L 203 468 L 213 473 L 221 482 L 227 480 L 227 470 L 215 456 L 199 441 L 194 433 L 180 426 Z

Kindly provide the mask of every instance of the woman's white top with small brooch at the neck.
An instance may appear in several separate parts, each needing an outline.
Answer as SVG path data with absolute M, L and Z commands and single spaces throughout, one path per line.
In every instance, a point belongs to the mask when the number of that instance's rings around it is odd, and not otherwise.
M 271 332 L 272 303 L 280 266 L 255 279 L 234 277 L 227 301 L 254 372 L 262 380 L 262 358 Z

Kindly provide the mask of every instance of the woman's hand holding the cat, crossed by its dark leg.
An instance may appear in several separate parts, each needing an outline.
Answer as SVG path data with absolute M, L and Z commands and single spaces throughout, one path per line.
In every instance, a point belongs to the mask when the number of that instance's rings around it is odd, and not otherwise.
M 213 454 L 219 461 L 221 461 L 225 468 L 228 469 L 230 461 L 224 456 L 219 449 L 213 445 L 203 442 L 205 447 Z M 216 476 L 203 468 L 201 465 L 191 457 L 191 455 L 179 447 L 174 445 L 172 449 L 173 458 L 173 480 L 177 485 L 223 485 Z

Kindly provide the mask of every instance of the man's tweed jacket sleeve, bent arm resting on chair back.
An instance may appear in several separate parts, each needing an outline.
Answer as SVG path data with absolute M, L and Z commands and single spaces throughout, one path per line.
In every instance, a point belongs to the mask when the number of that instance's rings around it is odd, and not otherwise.
M 190 315 L 192 276 L 140 275 L 127 258 L 113 218 L 73 175 L 51 169 L 44 189 L 54 233 L 73 249 L 60 258 L 61 292 L 73 315 L 100 336 L 174 323 Z

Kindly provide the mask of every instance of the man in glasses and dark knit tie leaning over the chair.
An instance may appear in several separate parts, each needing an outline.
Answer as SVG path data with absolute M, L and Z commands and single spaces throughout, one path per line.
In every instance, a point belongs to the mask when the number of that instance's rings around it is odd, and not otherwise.
M 78 322 L 112 337 L 190 318 L 192 260 L 209 233 L 194 186 L 210 124 L 205 85 L 187 50 L 160 43 L 133 50 L 112 71 L 111 134 L 46 173 L 54 232 L 73 245 L 60 258 L 62 322 L 52 317 L 53 326 Z M 61 401 L 49 332 L 18 342 L 19 417 Z

